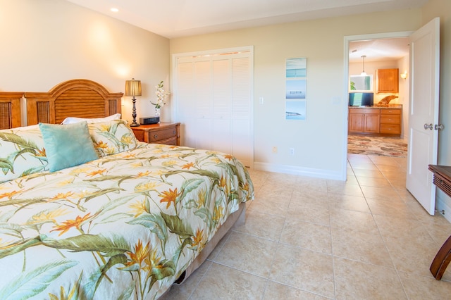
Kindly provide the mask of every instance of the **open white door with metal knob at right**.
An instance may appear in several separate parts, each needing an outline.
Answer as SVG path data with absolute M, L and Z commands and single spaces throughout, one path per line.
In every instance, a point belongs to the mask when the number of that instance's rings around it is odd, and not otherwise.
M 435 186 L 428 165 L 437 163 L 440 19 L 410 36 L 409 148 L 406 187 L 433 215 Z

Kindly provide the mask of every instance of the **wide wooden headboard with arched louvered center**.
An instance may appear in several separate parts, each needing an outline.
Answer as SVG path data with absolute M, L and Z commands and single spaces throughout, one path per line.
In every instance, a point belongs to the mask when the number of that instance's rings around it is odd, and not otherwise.
M 59 124 L 67 117 L 103 118 L 121 113 L 123 93 L 110 93 L 92 80 L 61 82 L 49 92 L 25 92 L 27 125 Z

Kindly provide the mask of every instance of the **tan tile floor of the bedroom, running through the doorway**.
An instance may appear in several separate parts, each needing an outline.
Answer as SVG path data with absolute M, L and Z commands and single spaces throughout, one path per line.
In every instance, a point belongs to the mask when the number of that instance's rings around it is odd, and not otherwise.
M 348 156 L 347 182 L 251 170 L 255 200 L 207 261 L 163 299 L 451 299 L 451 235 L 405 189 L 405 158 Z

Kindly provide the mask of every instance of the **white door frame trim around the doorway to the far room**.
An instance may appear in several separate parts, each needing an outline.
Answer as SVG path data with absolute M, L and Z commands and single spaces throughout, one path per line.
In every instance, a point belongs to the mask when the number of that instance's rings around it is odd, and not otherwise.
M 343 109 L 345 111 L 346 115 L 346 122 L 345 126 L 343 126 L 343 130 L 345 130 L 344 134 L 344 141 L 343 141 L 343 150 L 342 153 L 343 159 L 342 159 L 342 170 L 344 170 L 346 179 L 347 177 L 347 124 L 349 122 L 349 115 L 348 115 L 348 103 L 346 101 L 348 97 L 348 84 L 349 84 L 349 72 L 350 72 L 350 42 L 355 41 L 362 41 L 366 39 L 392 39 L 397 37 L 409 37 L 412 35 L 414 31 L 401 31 L 401 32 L 383 32 L 383 33 L 373 33 L 373 34 L 366 34 L 366 35 L 346 35 L 344 37 L 345 42 L 344 44 L 344 51 L 343 51 L 343 98 L 345 101 L 343 101 Z

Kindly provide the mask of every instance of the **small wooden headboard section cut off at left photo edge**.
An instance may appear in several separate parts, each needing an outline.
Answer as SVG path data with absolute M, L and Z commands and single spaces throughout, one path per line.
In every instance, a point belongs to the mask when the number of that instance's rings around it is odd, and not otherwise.
M 22 125 L 20 99 L 22 99 L 23 94 L 23 92 L 0 92 L 0 129 Z

